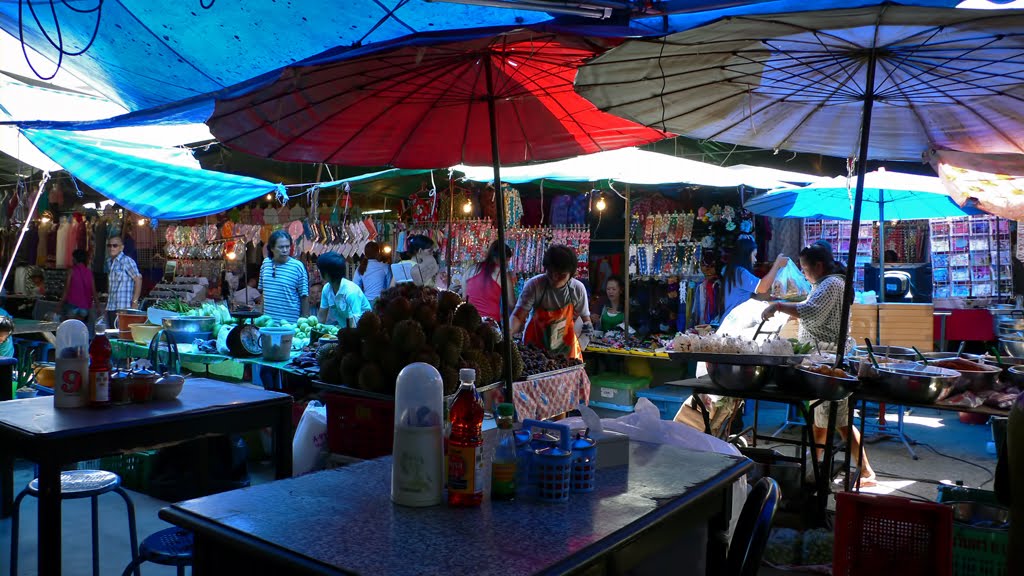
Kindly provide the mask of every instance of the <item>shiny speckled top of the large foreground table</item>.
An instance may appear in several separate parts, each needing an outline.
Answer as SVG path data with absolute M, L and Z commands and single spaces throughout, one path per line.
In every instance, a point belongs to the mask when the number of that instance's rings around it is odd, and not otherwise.
M 600 457 L 600 454 L 598 454 Z M 485 498 L 479 508 L 410 508 L 390 500 L 390 457 L 179 502 L 161 517 L 215 531 L 325 573 L 564 572 L 725 489 L 750 460 L 631 443 L 630 466 L 598 470 L 567 503 Z M 686 512 L 681 512 L 686 513 Z

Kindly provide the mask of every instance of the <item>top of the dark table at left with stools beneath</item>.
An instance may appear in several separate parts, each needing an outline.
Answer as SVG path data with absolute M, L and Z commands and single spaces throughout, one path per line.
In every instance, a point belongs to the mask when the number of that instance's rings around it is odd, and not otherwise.
M 55 409 L 51 396 L 0 402 L 0 428 L 25 436 L 60 438 L 245 406 L 291 402 L 287 394 L 252 385 L 189 378 L 178 398 L 169 402 L 126 404 L 99 410 Z

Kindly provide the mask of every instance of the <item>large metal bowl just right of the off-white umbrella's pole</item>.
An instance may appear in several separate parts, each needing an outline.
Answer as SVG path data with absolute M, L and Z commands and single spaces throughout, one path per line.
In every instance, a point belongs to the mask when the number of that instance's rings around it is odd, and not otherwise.
M 864 380 L 861 389 L 892 403 L 934 404 L 952 393 L 959 372 L 924 366 L 897 364 L 881 367 L 878 375 Z

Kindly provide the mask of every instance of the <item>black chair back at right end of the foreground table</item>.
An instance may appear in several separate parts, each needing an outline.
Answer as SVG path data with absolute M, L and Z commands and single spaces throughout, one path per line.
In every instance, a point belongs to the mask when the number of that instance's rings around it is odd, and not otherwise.
M 757 576 L 779 498 L 778 484 L 774 480 L 765 477 L 754 485 L 732 532 L 729 556 L 725 561 L 728 567 L 726 574 Z

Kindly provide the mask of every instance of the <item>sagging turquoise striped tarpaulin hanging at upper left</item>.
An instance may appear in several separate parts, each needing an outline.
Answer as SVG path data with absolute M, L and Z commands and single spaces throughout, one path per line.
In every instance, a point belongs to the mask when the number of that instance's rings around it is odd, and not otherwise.
M 282 184 L 129 156 L 113 150 L 104 140 L 82 134 L 29 129 L 23 133 L 76 178 L 128 210 L 155 220 L 206 216 L 268 193 L 285 195 Z

